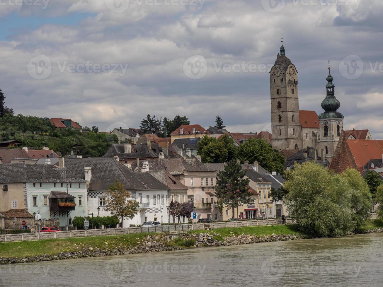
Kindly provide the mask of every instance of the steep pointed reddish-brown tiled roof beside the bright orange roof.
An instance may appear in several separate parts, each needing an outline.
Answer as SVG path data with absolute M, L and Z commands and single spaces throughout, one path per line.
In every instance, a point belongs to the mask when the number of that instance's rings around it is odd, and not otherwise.
M 342 134 L 340 135 L 339 142 L 336 146 L 334 155 L 332 156 L 329 168 L 334 170 L 335 173 L 342 173 L 346 171 L 347 168 L 358 169 L 354 156 L 352 155 L 350 147 L 347 144 L 347 139 L 343 130 Z

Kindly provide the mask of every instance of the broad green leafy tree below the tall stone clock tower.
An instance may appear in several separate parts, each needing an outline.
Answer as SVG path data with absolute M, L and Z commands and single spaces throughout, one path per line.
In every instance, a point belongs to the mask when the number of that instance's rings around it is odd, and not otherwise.
M 241 162 L 258 163 L 269 172 L 284 173 L 285 158 L 264 139 L 249 138 L 238 147 Z

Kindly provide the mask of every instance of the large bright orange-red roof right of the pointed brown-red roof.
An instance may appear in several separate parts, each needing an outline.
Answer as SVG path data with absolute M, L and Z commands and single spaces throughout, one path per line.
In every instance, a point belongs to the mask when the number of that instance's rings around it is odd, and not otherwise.
M 347 140 L 356 164 L 361 167 L 369 160 L 381 158 L 383 155 L 383 140 Z

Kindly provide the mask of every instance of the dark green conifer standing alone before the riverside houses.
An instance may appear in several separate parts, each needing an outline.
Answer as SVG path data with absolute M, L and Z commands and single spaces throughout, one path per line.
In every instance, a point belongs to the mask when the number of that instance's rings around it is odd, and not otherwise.
M 232 210 L 232 218 L 234 218 L 236 207 L 253 202 L 253 194 L 247 186 L 250 179 L 244 178 L 245 175 L 246 170 L 242 170 L 242 166 L 234 159 L 229 161 L 224 170 L 217 175 L 218 180 L 214 187 L 216 197 Z

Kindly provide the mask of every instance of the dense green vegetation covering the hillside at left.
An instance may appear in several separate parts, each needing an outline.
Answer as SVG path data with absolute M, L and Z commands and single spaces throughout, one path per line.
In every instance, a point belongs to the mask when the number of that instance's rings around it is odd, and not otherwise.
M 18 140 L 29 148 L 49 147 L 61 155 L 69 155 L 73 150 L 74 154 L 83 157 L 101 157 L 113 142 L 118 141 L 115 135 L 57 129 L 48 118 L 21 114 L 0 117 L 0 138 L 1 141 Z

